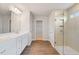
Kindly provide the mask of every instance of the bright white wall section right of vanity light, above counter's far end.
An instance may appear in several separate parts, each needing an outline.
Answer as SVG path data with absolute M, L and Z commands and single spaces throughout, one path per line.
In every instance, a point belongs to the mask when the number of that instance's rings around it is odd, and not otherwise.
M 21 31 L 30 32 L 30 11 L 26 10 L 23 12 L 21 19 Z

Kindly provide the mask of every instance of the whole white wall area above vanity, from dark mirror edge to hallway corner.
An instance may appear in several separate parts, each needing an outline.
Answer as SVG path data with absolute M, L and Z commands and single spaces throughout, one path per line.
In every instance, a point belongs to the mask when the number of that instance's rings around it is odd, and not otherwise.
M 11 32 L 30 32 L 30 12 L 25 10 L 22 14 L 11 13 Z

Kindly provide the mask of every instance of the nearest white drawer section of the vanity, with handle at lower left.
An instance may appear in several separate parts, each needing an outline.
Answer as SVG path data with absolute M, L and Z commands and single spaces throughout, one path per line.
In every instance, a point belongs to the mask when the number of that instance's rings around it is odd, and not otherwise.
M 16 40 L 6 40 L 5 42 L 0 43 L 0 52 L 1 55 L 14 55 L 16 54 Z

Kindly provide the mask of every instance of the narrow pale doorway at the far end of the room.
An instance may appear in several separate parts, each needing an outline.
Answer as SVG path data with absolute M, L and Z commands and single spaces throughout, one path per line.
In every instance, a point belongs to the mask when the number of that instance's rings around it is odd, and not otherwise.
M 36 39 L 41 40 L 43 38 L 43 22 L 41 20 L 36 21 Z

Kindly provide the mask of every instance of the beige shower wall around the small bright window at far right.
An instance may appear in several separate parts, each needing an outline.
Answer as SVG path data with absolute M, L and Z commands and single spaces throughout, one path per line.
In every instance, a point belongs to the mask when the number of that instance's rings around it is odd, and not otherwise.
M 75 4 L 73 7 L 68 9 L 69 15 L 76 11 L 79 11 L 79 4 Z M 67 45 L 79 52 L 79 16 L 68 18 L 65 26 Z

